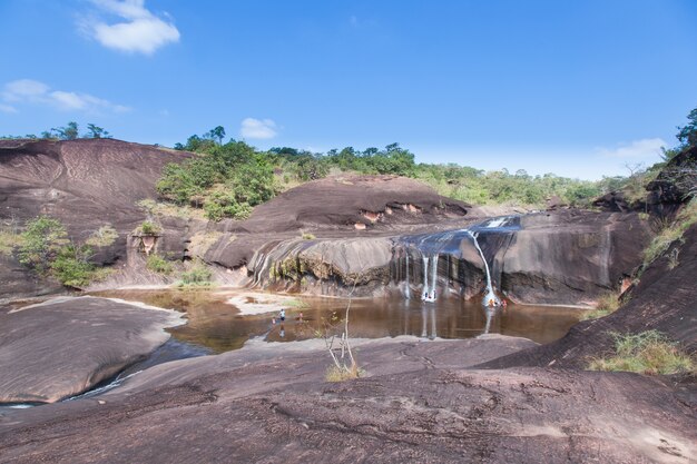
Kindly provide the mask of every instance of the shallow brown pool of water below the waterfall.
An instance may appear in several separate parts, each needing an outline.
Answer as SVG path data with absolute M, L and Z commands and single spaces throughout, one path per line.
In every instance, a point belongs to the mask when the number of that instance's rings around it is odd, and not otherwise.
M 207 347 L 215 353 L 237 349 L 251 337 L 271 342 L 314 338 L 335 314 L 344 317 L 346 299 L 301 297 L 305 306 L 287 308 L 284 324 L 272 324 L 277 313 L 240 316 L 226 303 L 242 290 L 112 290 L 100 296 L 138 300 L 150 305 L 185 310 L 188 323 L 171 328 L 181 342 Z M 301 317 L 302 313 L 302 317 Z M 362 299 L 351 306 L 351 336 L 361 338 L 414 335 L 424 338 L 470 338 L 483 333 L 520 336 L 538 343 L 562 337 L 581 310 L 560 307 L 517 306 L 482 308 L 479 298 L 471 302 L 441 298 L 424 303 L 421 298 Z

